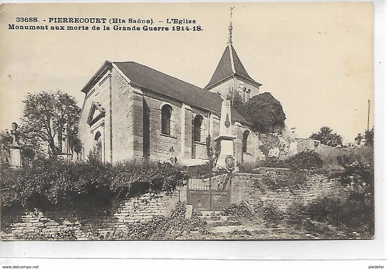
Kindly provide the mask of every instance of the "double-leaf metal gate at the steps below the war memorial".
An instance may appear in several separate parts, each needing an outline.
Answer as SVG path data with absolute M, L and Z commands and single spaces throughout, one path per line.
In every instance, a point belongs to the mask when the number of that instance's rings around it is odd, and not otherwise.
M 230 204 L 231 173 L 188 171 L 187 200 L 198 211 L 220 211 Z

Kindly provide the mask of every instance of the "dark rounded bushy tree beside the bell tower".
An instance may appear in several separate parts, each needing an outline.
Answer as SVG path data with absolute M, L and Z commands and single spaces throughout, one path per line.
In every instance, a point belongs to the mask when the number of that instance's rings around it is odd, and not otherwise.
M 255 95 L 236 110 L 252 124 L 253 131 L 261 133 L 282 129 L 286 119 L 281 103 L 271 93 Z

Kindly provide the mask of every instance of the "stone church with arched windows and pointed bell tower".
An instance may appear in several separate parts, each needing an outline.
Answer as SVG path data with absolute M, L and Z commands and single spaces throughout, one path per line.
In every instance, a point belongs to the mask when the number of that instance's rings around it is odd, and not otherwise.
M 244 101 L 262 85 L 243 67 L 232 45 L 232 24 L 224 53 L 204 89 L 136 62 L 105 61 L 83 87 L 79 120 L 82 158 L 95 149 L 102 161 L 130 159 L 200 164 L 219 136 L 222 101 L 238 91 Z M 262 158 L 258 134 L 231 108 L 237 162 Z

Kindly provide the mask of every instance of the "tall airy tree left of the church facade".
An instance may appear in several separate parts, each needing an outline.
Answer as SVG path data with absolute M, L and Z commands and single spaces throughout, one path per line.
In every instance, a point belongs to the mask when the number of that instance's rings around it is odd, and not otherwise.
M 29 93 L 21 122 L 24 141 L 41 147 L 47 143 L 49 154 L 55 156 L 62 150 L 67 135 L 70 146 L 79 149 L 77 123 L 80 108 L 74 97 L 62 91 Z

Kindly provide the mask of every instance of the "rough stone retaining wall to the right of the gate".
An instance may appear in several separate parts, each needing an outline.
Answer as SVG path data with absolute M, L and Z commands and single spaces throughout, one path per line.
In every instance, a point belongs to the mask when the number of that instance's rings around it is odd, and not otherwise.
M 260 168 L 255 174 L 234 173 L 231 180 L 231 203 L 249 202 L 252 206 L 263 202 L 273 204 L 286 211 L 289 207 L 298 204 L 308 204 L 318 197 L 340 198 L 345 197 L 346 192 L 338 179 L 329 179 L 325 175 L 309 175 L 305 188 L 294 193 L 283 189 L 276 191 L 261 191 L 253 187 L 254 182 L 262 180 L 265 175 L 284 175 L 289 173 L 287 168 Z

